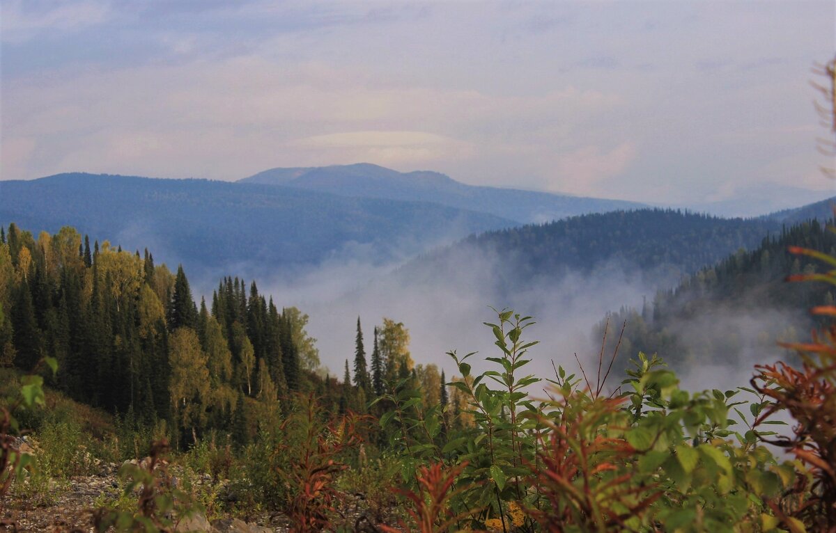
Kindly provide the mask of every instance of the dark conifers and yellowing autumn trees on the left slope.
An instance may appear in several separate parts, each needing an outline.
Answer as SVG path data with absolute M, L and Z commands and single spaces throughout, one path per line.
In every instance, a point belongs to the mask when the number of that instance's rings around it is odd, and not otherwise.
M 396 378 L 414 379 L 430 401 L 446 397 L 436 366 L 412 362 L 400 322 L 375 327 L 369 364 L 358 318 L 354 376 L 346 360 L 339 382 L 322 375 L 308 316 L 280 309 L 256 282 L 226 277 L 198 305 L 182 267 L 91 245 L 71 227 L 37 238 L 0 228 L 0 306 L 0 366 L 29 372 L 55 358 L 57 376 L 44 373 L 54 388 L 135 427 L 165 422 L 180 444 L 212 431 L 246 444 L 278 425 L 295 392 L 359 413 Z

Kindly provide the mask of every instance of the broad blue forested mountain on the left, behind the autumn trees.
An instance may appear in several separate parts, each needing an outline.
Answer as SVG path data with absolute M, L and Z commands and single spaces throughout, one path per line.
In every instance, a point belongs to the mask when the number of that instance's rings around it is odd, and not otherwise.
M 513 224 L 427 202 L 90 174 L 0 181 L 0 221 L 31 231 L 75 226 L 127 249 L 151 246 L 159 261 L 182 261 L 197 275 L 243 270 L 262 277 L 339 257 L 351 247 L 364 261 L 385 261 Z

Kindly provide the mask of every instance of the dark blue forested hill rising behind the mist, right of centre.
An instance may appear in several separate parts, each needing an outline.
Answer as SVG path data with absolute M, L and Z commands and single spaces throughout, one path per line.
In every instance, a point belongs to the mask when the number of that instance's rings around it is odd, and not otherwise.
M 613 211 L 470 236 L 410 261 L 398 275 L 431 282 L 436 272 L 451 272 L 463 257 L 493 256 L 500 260 L 492 279 L 505 292 L 613 265 L 664 287 L 780 230 L 780 223 L 769 220 L 660 209 Z

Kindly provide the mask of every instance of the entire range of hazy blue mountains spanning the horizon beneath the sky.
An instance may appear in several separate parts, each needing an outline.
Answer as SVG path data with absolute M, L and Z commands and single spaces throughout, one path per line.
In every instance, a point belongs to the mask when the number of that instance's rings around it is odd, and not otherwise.
M 656 261 L 657 270 L 664 264 L 679 275 L 738 247 L 756 246 L 782 223 L 826 218 L 829 203 L 726 220 L 636 211 L 644 206 L 624 201 L 465 185 L 436 172 L 400 173 L 368 164 L 273 169 L 239 182 L 84 173 L 0 181 L 3 223 L 50 232 L 75 226 L 127 249 L 148 246 L 158 260 L 182 262 L 195 276 L 266 277 L 328 260 L 404 261 L 486 231 L 466 245 L 525 258 L 529 277 L 554 274 L 558 263 L 589 267 L 587 259 L 618 257 L 625 249 L 642 250 L 639 266 Z M 600 215 L 612 211 L 619 214 Z M 510 229 L 515 226 L 523 227 Z M 681 250 L 684 243 L 691 255 L 675 256 L 669 249 Z M 439 261 L 441 252 L 434 253 Z

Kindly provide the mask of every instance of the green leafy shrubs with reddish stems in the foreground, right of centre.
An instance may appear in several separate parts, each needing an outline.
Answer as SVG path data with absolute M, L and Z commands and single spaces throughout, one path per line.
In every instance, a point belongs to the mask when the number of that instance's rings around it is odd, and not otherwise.
M 548 400 L 535 401 L 528 389 L 541 379 L 517 375 L 533 322 L 509 311 L 497 318 L 487 327 L 499 355 L 486 358 L 496 370 L 473 375 L 473 354 L 451 353 L 463 378 L 448 385 L 467 398 L 472 427 L 441 439 L 441 414 L 407 383 L 380 399 L 394 405 L 380 423 L 393 429 L 406 486 L 418 486 L 430 464 L 460 465 L 448 498 L 461 515 L 456 528 L 736 531 L 780 522 L 773 502 L 792 490 L 797 465 L 761 444 L 774 432 L 737 430 L 747 419 L 729 416 L 747 405 L 757 417 L 770 405 L 763 395 L 689 393 L 659 358 L 640 353 L 623 393 L 604 395 L 601 370 L 590 383 L 556 368 Z M 528 517 L 515 519 L 518 509 Z

